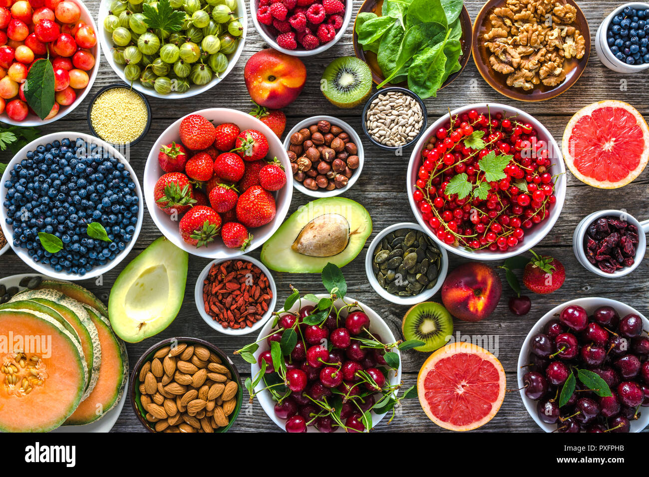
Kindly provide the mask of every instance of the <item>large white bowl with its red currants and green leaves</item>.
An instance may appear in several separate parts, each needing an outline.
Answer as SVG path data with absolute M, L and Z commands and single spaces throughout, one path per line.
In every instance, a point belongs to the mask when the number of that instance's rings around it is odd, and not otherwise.
M 441 247 L 473 260 L 503 260 L 539 243 L 566 191 L 552 134 L 526 112 L 495 103 L 437 119 L 413 150 L 407 180 L 419 224 Z

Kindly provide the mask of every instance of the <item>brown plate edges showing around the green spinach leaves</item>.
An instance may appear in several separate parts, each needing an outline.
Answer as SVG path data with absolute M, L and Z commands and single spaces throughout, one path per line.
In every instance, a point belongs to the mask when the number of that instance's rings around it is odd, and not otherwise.
M 378 16 L 381 16 L 381 7 L 383 6 L 383 0 L 365 0 L 361 8 L 359 8 L 358 13 L 361 12 L 373 12 Z M 358 16 L 358 13 L 356 14 Z M 469 12 L 467 7 L 462 7 L 462 12 L 459 14 L 459 19 L 462 24 L 462 38 L 459 39 L 459 42 L 462 45 L 462 55 L 459 57 L 459 70 L 450 75 L 447 80 L 439 87 L 441 90 L 448 84 L 450 84 L 458 75 L 462 72 L 467 63 L 469 62 L 469 56 L 471 56 L 471 40 L 472 40 L 472 31 L 471 31 L 471 17 L 469 17 Z M 376 53 L 372 51 L 363 51 L 363 46 L 358 43 L 358 35 L 356 34 L 356 20 L 354 19 L 354 55 L 357 58 L 363 60 L 369 66 L 369 69 L 372 70 L 372 80 L 376 84 L 381 84 L 385 79 L 380 67 L 378 67 L 378 62 L 376 62 Z M 390 86 L 400 86 L 401 88 L 408 88 L 408 82 L 402 81 L 400 83 L 392 84 L 386 83 L 384 88 L 389 88 Z

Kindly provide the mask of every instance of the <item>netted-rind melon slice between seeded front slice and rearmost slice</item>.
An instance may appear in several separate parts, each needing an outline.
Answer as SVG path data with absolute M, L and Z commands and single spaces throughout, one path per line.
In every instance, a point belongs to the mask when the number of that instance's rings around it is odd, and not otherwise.
M 87 398 L 95 389 L 99 379 L 99 367 L 101 365 L 101 345 L 97 327 L 92 323 L 90 315 L 77 300 L 73 300 L 64 293 L 53 289 L 25 290 L 14 295 L 9 302 L 18 300 L 31 300 L 53 308 L 66 321 L 75 328 L 81 341 L 81 347 L 88 363 L 88 386 L 83 398 Z

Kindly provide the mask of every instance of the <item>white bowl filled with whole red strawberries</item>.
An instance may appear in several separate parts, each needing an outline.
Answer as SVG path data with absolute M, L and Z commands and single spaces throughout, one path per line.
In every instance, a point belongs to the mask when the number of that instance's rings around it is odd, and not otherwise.
M 256 249 L 280 226 L 293 177 L 273 131 L 250 114 L 210 108 L 154 143 L 144 171 L 149 214 L 166 238 L 206 258 Z

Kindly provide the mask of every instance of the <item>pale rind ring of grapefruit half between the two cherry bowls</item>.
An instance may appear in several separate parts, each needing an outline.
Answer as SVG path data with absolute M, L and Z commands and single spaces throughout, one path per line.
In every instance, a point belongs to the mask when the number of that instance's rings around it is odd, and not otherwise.
M 491 410 L 486 413 L 486 415 L 481 419 L 477 419 L 476 421 L 469 422 L 464 425 L 457 425 L 453 424 L 452 422 L 443 421 L 433 413 L 433 411 L 430 409 L 428 398 L 426 397 L 427 391 L 425 385 L 426 377 L 431 371 L 434 370 L 435 365 L 439 363 L 439 361 L 459 354 L 476 355 L 482 360 L 487 361 L 487 363 L 491 363 L 491 365 L 493 365 L 496 372 L 498 373 L 498 393 L 497 397 L 493 400 L 493 402 L 490 403 Z M 459 372 L 460 370 L 457 371 Z M 458 373 L 454 374 L 456 377 L 458 376 Z M 496 413 L 498 413 L 498 410 L 500 410 L 500 406 L 502 405 L 502 402 L 505 398 L 505 391 L 506 376 L 502 364 L 500 364 L 500 361 L 498 361 L 498 359 L 489 351 L 482 349 L 476 345 L 472 345 L 471 343 L 451 343 L 450 345 L 446 345 L 445 347 L 435 351 L 424 362 L 424 365 L 422 365 L 421 370 L 419 371 L 419 375 L 417 376 L 417 394 L 419 396 L 419 403 L 421 404 L 424 412 L 431 421 L 435 422 L 435 424 L 437 424 L 441 428 L 453 431 L 473 430 L 479 428 L 480 426 L 484 426 L 484 424 L 487 424 L 487 422 L 491 421 Z

